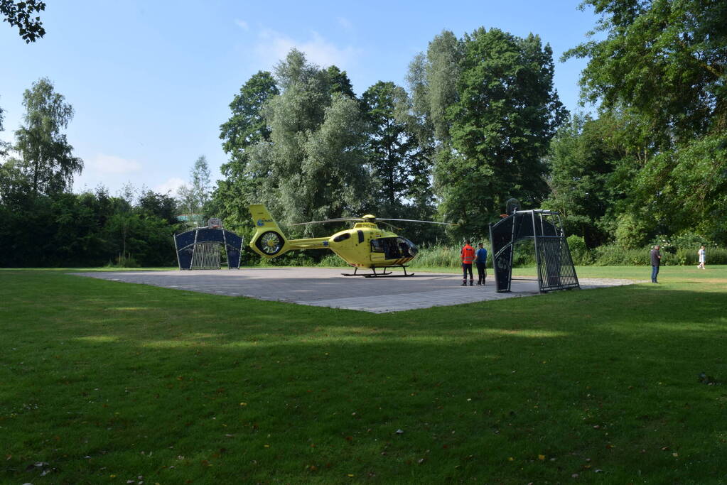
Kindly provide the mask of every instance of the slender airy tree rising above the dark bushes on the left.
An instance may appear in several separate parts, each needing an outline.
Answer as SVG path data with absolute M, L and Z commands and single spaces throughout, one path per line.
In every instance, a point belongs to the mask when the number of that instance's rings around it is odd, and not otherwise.
M 15 150 L 31 181 L 33 195 L 71 189 L 73 175 L 83 170 L 83 160 L 73 156 L 62 130 L 73 118 L 73 107 L 53 89 L 47 78 L 33 83 L 23 94 L 24 125 L 15 131 Z

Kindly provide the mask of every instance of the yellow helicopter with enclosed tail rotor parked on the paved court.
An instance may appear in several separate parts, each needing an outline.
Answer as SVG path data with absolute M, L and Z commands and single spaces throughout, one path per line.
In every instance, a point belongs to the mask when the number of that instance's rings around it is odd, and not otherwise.
M 337 219 L 326 219 L 325 221 L 291 224 L 292 226 L 301 226 L 304 224 L 323 224 L 326 222 L 356 222 L 353 228 L 345 229 L 329 237 L 289 240 L 285 237 L 280 227 L 278 227 L 276 221 L 270 216 L 265 205 L 250 205 L 250 213 L 252 214 L 252 221 L 257 228 L 250 241 L 250 248 L 254 252 L 265 258 L 275 258 L 294 249 L 330 249 L 348 264 L 354 266 L 353 274 L 342 273 L 344 276 L 389 276 L 392 272 L 387 272 L 386 270 L 395 266 L 401 266 L 404 270 L 404 274 L 395 276 L 412 276 L 414 274 L 407 273 L 406 266 L 404 265 L 414 259 L 414 256 L 417 256 L 417 245 L 405 237 L 379 228 L 377 224 L 385 224 L 393 229 L 398 229 L 398 227 L 384 221 L 424 222 L 426 224 L 449 226 L 457 225 L 447 222 L 416 221 L 414 219 L 379 219 L 369 214 L 363 217 L 340 217 Z M 357 274 L 359 268 L 371 269 L 373 274 Z M 377 273 L 377 268 L 383 268 L 383 272 Z

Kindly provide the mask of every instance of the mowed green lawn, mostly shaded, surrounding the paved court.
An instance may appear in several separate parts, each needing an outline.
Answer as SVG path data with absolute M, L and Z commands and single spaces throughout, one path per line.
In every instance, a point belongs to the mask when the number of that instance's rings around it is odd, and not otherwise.
M 727 482 L 727 266 L 660 281 L 378 315 L 0 270 L 0 483 Z

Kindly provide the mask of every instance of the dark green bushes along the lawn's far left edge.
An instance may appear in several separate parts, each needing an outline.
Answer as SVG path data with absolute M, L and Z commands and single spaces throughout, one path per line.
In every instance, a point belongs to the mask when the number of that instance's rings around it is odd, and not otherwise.
M 142 200 L 132 206 L 99 188 L 0 204 L 0 266 L 174 266 L 172 235 L 182 226 L 172 216 L 172 200 L 153 192 Z

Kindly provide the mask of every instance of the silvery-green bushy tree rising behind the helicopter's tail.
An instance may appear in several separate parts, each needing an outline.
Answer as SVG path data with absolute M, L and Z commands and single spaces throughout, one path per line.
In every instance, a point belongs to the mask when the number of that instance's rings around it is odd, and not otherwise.
M 255 200 L 289 221 L 358 211 L 370 179 L 358 102 L 332 95 L 326 70 L 295 49 L 276 67 L 276 80 L 282 92 L 263 109 L 270 142 L 251 150 L 247 170 L 260 181 Z

